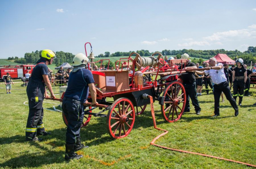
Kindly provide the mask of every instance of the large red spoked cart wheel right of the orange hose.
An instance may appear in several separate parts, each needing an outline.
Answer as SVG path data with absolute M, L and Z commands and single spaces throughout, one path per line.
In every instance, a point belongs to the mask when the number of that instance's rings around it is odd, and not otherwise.
M 178 121 L 185 109 L 186 93 L 184 86 L 178 82 L 170 83 L 163 92 L 164 105 L 161 105 L 163 119 L 166 122 Z

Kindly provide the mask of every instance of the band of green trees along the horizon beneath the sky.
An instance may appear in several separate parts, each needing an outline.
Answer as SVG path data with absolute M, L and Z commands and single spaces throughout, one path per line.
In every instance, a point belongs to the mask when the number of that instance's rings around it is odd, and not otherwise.
M 129 52 L 115 52 L 115 53 L 110 53 L 106 51 L 104 54 L 99 54 L 98 57 L 99 59 L 101 57 L 116 57 L 116 56 L 129 56 L 132 52 L 135 51 L 129 51 Z M 256 47 L 248 47 L 246 51 L 241 52 L 239 50 L 224 50 L 224 49 L 217 49 L 217 50 L 193 50 L 193 49 L 182 49 L 182 50 L 162 50 L 162 51 L 155 51 L 155 52 L 160 52 L 163 56 L 166 55 L 175 55 L 177 58 L 181 58 L 181 55 L 183 53 L 189 54 L 191 57 L 195 57 L 198 59 L 192 59 L 193 62 L 198 62 L 202 63 L 203 59 L 209 59 L 211 57 L 214 57 L 218 53 L 223 53 L 227 54 L 231 59 L 237 58 L 242 58 L 244 60 L 245 64 L 250 64 L 251 61 L 252 63 L 256 63 Z M 155 52 L 149 52 L 148 50 L 137 50 L 136 53 L 139 53 L 140 56 L 151 56 Z M 36 63 L 36 61 L 39 59 L 41 51 L 32 51 L 31 53 L 25 53 L 24 58 L 18 58 L 18 57 L 9 57 L 8 60 L 14 60 L 16 63 L 20 64 L 31 64 L 31 63 Z M 60 66 L 64 62 L 68 62 L 69 64 L 72 65 L 72 61 L 74 58 L 74 54 L 69 53 L 69 52 L 63 52 L 63 51 L 57 51 L 56 52 L 57 58 L 54 59 L 54 64 L 56 66 Z M 202 59 L 203 58 L 203 59 Z M 113 65 L 113 63 L 111 63 Z

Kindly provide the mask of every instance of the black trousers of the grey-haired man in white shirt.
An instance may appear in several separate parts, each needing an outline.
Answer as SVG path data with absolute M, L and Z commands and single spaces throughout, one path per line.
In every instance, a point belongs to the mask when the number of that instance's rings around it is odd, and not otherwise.
M 219 85 L 213 85 L 213 95 L 214 95 L 214 114 L 219 115 L 220 114 L 220 97 L 221 97 L 221 92 L 224 93 L 226 96 L 227 100 L 233 107 L 235 111 L 238 110 L 238 106 L 236 104 L 235 99 L 232 97 L 229 84 L 227 81 L 222 82 Z

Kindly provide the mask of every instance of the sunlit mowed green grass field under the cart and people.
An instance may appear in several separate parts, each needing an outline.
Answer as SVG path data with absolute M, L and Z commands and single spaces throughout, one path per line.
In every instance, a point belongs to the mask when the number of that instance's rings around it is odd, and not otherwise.
M 0 87 L 5 85 L 0 84 Z M 80 150 L 84 158 L 64 160 L 66 126 L 60 112 L 44 110 L 44 124 L 52 135 L 42 137 L 42 142 L 26 142 L 25 127 L 28 117 L 26 87 L 20 83 L 12 85 L 11 94 L 0 89 L 0 167 L 3 168 L 246 168 L 245 165 L 217 160 L 198 155 L 185 154 L 149 145 L 153 138 L 162 133 L 153 128 L 150 107 L 136 116 L 135 124 L 128 137 L 113 140 L 106 128 L 106 118 L 92 117 L 81 129 L 82 141 L 89 148 Z M 204 87 L 203 87 L 204 88 Z M 58 93 L 58 87 L 54 87 Z M 184 113 L 175 123 L 163 120 L 160 105 L 156 101 L 157 126 L 169 133 L 156 144 L 238 160 L 256 165 L 256 89 L 250 90 L 251 97 L 244 97 L 239 115 L 225 99 L 220 103 L 220 117 L 211 118 L 214 111 L 213 94 L 199 97 L 201 114 L 193 111 Z M 46 102 L 58 103 L 45 100 Z M 192 103 L 190 103 L 192 105 Z M 53 105 L 44 103 L 44 108 Z M 60 109 L 58 107 L 58 109 Z M 98 110 L 94 111 L 98 112 Z

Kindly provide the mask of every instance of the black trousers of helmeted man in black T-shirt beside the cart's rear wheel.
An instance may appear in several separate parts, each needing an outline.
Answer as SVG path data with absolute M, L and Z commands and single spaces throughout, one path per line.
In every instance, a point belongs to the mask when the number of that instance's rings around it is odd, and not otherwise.
M 186 92 L 186 105 L 185 105 L 185 111 L 190 111 L 190 105 L 189 105 L 189 97 L 192 101 L 193 106 L 195 107 L 195 111 L 201 111 L 201 108 L 199 106 L 199 102 L 197 99 L 197 89 L 196 89 L 196 82 L 193 82 L 192 84 L 183 84 Z

